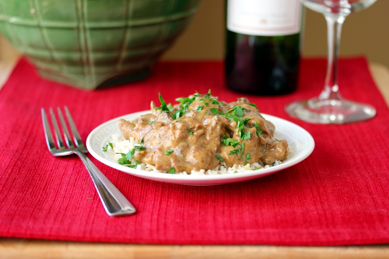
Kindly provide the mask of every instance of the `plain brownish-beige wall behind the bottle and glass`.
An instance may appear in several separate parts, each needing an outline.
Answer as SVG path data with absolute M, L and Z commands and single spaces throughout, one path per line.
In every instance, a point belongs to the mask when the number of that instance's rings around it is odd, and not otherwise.
M 224 32 L 224 0 L 202 0 L 191 25 L 163 59 L 223 59 Z M 303 56 L 326 56 L 324 16 L 307 9 L 304 33 Z M 389 0 L 378 0 L 346 18 L 340 55 L 365 55 L 369 61 L 389 67 Z

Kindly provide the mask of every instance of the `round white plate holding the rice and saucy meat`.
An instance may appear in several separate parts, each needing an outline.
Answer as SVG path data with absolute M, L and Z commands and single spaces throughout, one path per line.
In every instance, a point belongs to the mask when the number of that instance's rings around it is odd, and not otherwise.
M 176 184 L 189 184 L 189 185 L 215 185 L 215 184 L 227 184 L 241 181 L 247 181 L 269 174 L 274 174 L 280 170 L 284 170 L 292 165 L 300 163 L 307 158 L 313 151 L 315 142 L 313 137 L 300 126 L 288 122 L 287 120 L 262 114 L 266 120 L 274 123 L 275 136 L 277 139 L 286 139 L 288 145 L 292 148 L 292 152 L 289 154 L 287 160 L 280 165 L 276 165 L 269 168 L 258 169 L 247 172 L 239 172 L 235 174 L 217 174 L 217 175 L 180 175 L 180 174 L 165 174 L 159 172 L 147 172 L 144 170 L 137 170 L 124 165 L 119 165 L 114 155 L 103 152 L 102 147 L 106 146 L 110 141 L 113 134 L 120 133 L 118 127 L 118 120 L 123 118 L 125 120 L 133 120 L 141 115 L 151 113 L 151 111 L 140 111 L 137 113 L 131 113 L 128 115 L 120 116 L 118 118 L 109 120 L 102 125 L 96 127 L 88 136 L 86 140 L 86 147 L 89 153 L 97 160 L 108 165 L 114 169 L 122 172 L 139 176 L 142 178 L 160 181 L 165 183 Z

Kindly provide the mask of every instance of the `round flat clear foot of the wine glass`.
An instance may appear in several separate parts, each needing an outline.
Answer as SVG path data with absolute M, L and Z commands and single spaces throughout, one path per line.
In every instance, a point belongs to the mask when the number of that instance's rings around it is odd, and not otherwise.
M 285 110 L 294 118 L 321 124 L 360 122 L 373 118 L 376 114 L 375 108 L 368 104 L 347 100 L 320 100 L 318 98 L 296 101 L 288 104 Z

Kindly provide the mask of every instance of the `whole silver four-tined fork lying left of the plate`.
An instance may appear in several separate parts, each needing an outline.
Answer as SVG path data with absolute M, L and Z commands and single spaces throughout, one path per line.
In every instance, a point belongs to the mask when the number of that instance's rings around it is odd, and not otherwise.
M 54 115 L 53 109 L 50 108 L 51 121 L 53 123 L 53 128 L 55 132 L 56 142 L 58 148 L 56 147 L 51 134 L 49 122 L 47 120 L 46 112 L 42 108 L 42 120 L 43 127 L 45 130 L 46 143 L 51 155 L 53 156 L 67 156 L 71 154 L 76 154 L 81 158 L 82 163 L 84 163 L 86 169 L 90 176 L 92 177 L 93 183 L 95 184 L 100 200 L 103 203 L 104 209 L 109 216 L 121 216 L 126 214 L 133 214 L 136 212 L 134 206 L 124 197 L 124 195 L 112 184 L 107 177 L 92 163 L 92 161 L 84 154 L 88 153 L 88 149 L 84 146 L 84 143 L 81 141 L 80 134 L 75 127 L 72 116 L 69 113 L 68 108 L 65 106 L 65 113 L 68 119 L 68 124 L 70 130 L 72 131 L 74 143 L 69 134 L 68 127 L 65 123 L 65 120 L 62 116 L 61 109 L 58 107 L 58 116 L 60 117 L 60 122 L 62 126 L 63 135 L 65 138 L 65 144 L 63 143 L 61 132 L 58 127 L 56 117 Z

